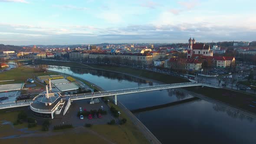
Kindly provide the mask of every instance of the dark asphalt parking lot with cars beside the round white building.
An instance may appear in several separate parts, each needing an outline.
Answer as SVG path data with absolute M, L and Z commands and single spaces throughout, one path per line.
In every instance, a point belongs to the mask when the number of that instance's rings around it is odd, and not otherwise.
M 69 110 L 67 111 L 65 116 L 56 115 L 56 118 L 53 119 L 53 125 L 57 124 L 72 124 L 73 126 L 83 126 L 84 124 L 107 124 L 112 119 L 115 119 L 110 111 L 110 108 L 108 105 L 106 105 L 101 99 L 100 103 L 98 104 L 88 104 L 89 99 L 79 100 L 79 101 L 73 101 L 71 102 L 71 106 Z M 82 108 L 82 110 L 86 109 L 86 111 L 90 110 L 97 110 L 103 106 L 104 110 L 107 111 L 107 115 L 102 115 L 102 118 L 94 118 L 94 115 L 92 115 L 92 119 L 89 120 L 87 116 L 84 115 L 84 119 L 80 119 L 77 116 L 77 113 L 79 111 L 79 108 Z M 63 111 L 64 109 L 62 109 Z M 61 118 L 62 117 L 62 118 Z

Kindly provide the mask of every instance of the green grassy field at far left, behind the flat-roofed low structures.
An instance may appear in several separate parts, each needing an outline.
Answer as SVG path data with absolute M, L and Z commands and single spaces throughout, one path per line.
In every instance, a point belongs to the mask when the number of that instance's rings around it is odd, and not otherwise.
M 32 78 L 34 79 L 34 76 L 41 76 L 41 75 L 57 75 L 56 72 L 42 72 L 39 69 L 33 69 L 28 67 L 17 67 L 16 69 L 11 69 L 10 71 L 1 72 L 0 73 L 0 81 L 3 80 L 13 80 L 10 82 L 0 82 L 0 85 L 5 84 L 13 84 L 13 83 L 22 83 L 25 82 L 26 79 Z

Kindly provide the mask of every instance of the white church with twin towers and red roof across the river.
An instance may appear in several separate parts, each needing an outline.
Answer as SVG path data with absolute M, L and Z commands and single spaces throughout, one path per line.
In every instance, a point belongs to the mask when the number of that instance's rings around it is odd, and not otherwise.
M 190 37 L 188 40 L 187 58 L 192 58 L 192 55 L 213 56 L 213 51 L 210 50 L 210 45 L 196 43 L 196 40 Z

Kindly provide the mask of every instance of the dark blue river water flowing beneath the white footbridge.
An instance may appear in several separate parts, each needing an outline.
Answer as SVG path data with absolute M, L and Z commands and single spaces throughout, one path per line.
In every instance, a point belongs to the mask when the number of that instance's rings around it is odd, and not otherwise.
M 105 90 L 156 83 L 100 70 L 49 65 L 49 70 L 88 80 Z M 129 110 L 179 101 L 192 96 L 173 89 L 120 95 Z M 204 100 L 135 113 L 163 144 L 256 144 L 256 121 Z

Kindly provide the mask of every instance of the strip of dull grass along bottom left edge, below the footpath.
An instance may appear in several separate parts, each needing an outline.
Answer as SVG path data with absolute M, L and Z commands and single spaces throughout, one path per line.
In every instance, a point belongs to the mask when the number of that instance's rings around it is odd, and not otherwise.
M 1 139 L 3 144 L 106 144 L 101 137 L 88 132 L 64 133 L 58 135 L 38 135 L 33 137 L 18 137 Z

